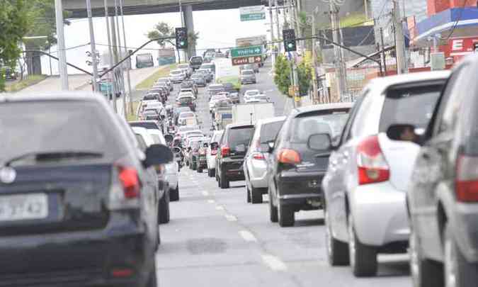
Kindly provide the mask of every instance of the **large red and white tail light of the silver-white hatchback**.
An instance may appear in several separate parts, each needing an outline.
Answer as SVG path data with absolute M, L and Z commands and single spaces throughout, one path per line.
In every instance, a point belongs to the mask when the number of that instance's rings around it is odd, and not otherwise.
M 376 135 L 360 142 L 357 153 L 358 184 L 373 184 L 389 180 L 389 166 Z

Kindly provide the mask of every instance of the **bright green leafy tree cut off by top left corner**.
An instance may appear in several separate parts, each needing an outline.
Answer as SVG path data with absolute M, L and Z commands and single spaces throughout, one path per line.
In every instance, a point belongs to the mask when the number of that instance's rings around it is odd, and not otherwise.
M 0 0 L 0 91 L 5 90 L 4 69 L 15 67 L 20 43 L 28 30 L 26 0 Z

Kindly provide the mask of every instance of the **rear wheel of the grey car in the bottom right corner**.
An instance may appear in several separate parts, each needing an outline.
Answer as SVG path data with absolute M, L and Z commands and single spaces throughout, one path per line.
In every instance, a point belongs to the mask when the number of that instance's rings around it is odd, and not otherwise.
M 443 271 L 445 287 L 477 286 L 477 266 L 467 261 L 457 246 L 450 224 L 445 226 L 445 246 Z

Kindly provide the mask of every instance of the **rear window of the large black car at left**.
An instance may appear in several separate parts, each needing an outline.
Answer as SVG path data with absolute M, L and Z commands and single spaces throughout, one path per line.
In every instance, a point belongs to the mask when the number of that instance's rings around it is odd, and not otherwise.
M 93 101 L 0 104 L 0 165 L 24 154 L 94 152 L 118 159 L 127 152 L 120 126 Z

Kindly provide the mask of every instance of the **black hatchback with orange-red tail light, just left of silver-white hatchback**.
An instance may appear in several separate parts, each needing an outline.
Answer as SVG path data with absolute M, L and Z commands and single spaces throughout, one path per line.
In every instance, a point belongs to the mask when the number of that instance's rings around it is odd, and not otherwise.
M 292 226 L 295 212 L 322 208 L 321 181 L 330 152 L 318 153 L 310 147 L 309 137 L 341 130 L 351 106 L 341 103 L 296 108 L 285 120 L 275 142 L 269 142 L 267 172 L 272 222 Z

